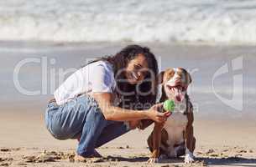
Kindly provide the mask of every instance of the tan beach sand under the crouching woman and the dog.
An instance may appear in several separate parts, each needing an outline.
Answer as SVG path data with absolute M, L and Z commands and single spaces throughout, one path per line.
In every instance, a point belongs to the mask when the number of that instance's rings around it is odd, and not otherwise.
M 16 115 L 13 117 L 13 115 Z M 146 139 L 152 127 L 135 129 L 97 149 L 103 158 L 74 159 L 76 140 L 54 139 L 44 128 L 44 113 L 1 114 L 1 166 L 255 166 L 255 122 L 195 120 L 196 162 L 183 157 L 148 164 Z M 3 119 L 4 118 L 4 119 Z M 251 127 L 251 128 L 250 128 Z

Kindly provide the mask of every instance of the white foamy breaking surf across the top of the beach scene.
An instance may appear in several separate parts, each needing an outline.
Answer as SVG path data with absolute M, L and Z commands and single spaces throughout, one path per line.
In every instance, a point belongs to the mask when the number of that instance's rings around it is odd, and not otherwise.
M 256 43 L 252 0 L 0 1 L 0 40 Z

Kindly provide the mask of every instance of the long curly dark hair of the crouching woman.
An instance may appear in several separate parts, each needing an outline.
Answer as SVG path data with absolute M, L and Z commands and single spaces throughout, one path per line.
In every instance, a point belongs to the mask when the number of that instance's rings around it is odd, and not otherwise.
M 118 73 L 118 70 L 127 68 L 128 63 L 133 60 L 133 58 L 136 58 L 138 54 L 144 55 L 148 63 L 149 71 L 153 73 L 147 73 L 144 77 L 144 81 L 135 85 L 128 82 L 118 82 L 118 80 L 125 78 L 124 73 Z M 149 107 L 155 103 L 157 94 L 155 79 L 159 73 L 159 69 L 156 58 L 154 57 L 154 54 L 150 52 L 149 48 L 141 47 L 139 45 L 128 45 L 113 56 L 98 58 L 90 63 L 94 63 L 99 60 L 107 61 L 112 64 L 114 75 L 117 80 L 117 87 L 121 90 L 120 92 L 134 92 L 134 94 L 129 95 L 118 92 L 119 97 L 122 99 L 119 107 L 141 110 L 149 109 Z M 139 92 L 148 94 L 139 94 Z

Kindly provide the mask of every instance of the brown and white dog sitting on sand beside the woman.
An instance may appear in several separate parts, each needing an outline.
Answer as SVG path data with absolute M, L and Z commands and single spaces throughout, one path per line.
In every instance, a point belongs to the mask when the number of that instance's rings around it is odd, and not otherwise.
M 151 151 L 149 163 L 159 159 L 185 155 L 185 164 L 194 161 L 196 139 L 193 134 L 193 111 L 186 89 L 191 83 L 191 74 L 184 68 L 169 68 L 159 74 L 159 102 L 175 101 L 175 110 L 165 124 L 154 123 L 149 135 Z

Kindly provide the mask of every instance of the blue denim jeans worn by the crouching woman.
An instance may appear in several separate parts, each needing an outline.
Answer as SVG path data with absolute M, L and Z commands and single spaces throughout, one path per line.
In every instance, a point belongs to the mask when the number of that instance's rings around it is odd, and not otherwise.
M 65 104 L 48 104 L 45 124 L 55 139 L 80 138 L 77 154 L 84 157 L 129 131 L 123 122 L 106 120 L 96 100 L 85 94 Z

